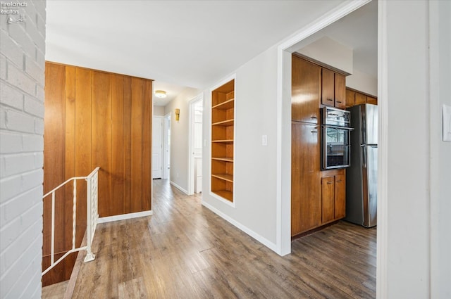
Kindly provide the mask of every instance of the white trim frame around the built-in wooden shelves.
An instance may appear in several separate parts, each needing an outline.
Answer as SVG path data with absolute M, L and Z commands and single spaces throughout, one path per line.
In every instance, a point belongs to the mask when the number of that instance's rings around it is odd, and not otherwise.
M 211 113 L 211 93 L 215 90 L 215 89 L 217 89 L 218 87 L 221 87 L 221 86 L 223 86 L 224 84 L 226 84 L 227 82 L 230 82 L 230 81 L 232 81 L 232 80 L 235 80 L 234 82 L 233 82 L 233 92 L 234 92 L 234 96 L 235 96 L 235 108 L 233 109 L 233 119 L 235 120 L 235 124 L 234 124 L 234 126 L 233 126 L 233 136 L 237 136 L 237 134 L 236 134 L 236 132 L 237 132 L 237 123 L 236 123 L 236 121 L 237 121 L 237 101 L 236 101 L 236 98 L 237 98 L 237 89 L 236 89 L 236 86 L 237 86 L 237 75 L 236 75 L 236 73 L 233 73 L 232 75 L 230 75 L 230 76 L 228 76 L 228 77 L 225 77 L 224 79 L 222 79 L 221 81 L 219 81 L 216 85 L 214 85 L 214 87 L 211 87 L 211 89 L 210 89 L 210 103 L 209 103 L 209 109 L 210 109 L 210 113 L 209 113 L 209 115 L 210 115 L 210 119 L 209 119 L 209 127 L 210 127 L 210 155 L 209 155 L 209 172 L 208 172 L 208 175 L 209 175 L 209 194 L 211 195 L 211 196 L 213 196 L 214 198 L 216 198 L 218 201 L 221 201 L 222 203 L 226 203 L 227 205 L 230 205 L 230 207 L 232 207 L 232 208 L 235 208 L 235 201 L 236 201 L 236 196 L 235 196 L 235 182 L 236 182 L 236 177 L 235 177 L 235 173 L 236 173 L 236 163 L 235 163 L 235 159 L 236 159 L 236 143 L 234 143 L 233 144 L 233 160 L 234 160 L 234 162 L 233 162 L 233 203 L 231 203 L 230 201 L 228 201 L 228 200 L 226 200 L 226 198 L 222 198 L 221 196 L 218 196 L 218 195 L 216 195 L 215 193 L 213 193 L 213 191 L 211 191 L 211 148 L 212 148 L 212 146 L 211 146 L 211 139 L 212 139 L 212 137 L 211 137 L 211 134 L 212 134 L 212 129 L 211 129 L 211 119 L 212 119 L 212 113 Z M 203 152 L 202 152 L 203 153 Z M 203 189 L 203 188 L 202 188 Z

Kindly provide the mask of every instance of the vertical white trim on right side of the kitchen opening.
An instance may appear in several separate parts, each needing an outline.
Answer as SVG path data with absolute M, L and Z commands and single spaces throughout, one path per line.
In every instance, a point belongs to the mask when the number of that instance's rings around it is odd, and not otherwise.
M 387 298 L 388 279 L 388 53 L 387 3 L 378 1 L 378 221 L 376 298 Z

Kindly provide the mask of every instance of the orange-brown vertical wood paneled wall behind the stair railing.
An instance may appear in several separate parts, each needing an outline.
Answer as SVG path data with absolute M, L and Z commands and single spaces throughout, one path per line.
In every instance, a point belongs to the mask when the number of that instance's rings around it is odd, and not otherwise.
M 151 210 L 152 80 L 46 63 L 44 193 L 99 166 L 99 216 Z M 86 230 L 86 182 L 77 182 L 79 245 Z M 73 189 L 56 193 L 56 259 L 72 246 Z M 43 269 L 50 264 L 51 196 L 44 200 Z M 46 274 L 70 278 L 76 255 Z

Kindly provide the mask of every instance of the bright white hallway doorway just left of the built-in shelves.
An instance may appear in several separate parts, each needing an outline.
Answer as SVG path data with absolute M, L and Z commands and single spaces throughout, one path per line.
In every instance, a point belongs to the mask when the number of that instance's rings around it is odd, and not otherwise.
M 202 94 L 190 101 L 190 146 L 188 165 L 188 195 L 202 192 Z

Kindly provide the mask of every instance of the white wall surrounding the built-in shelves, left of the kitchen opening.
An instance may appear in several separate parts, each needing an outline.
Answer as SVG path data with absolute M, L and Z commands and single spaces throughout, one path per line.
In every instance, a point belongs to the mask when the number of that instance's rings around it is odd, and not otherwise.
M 211 91 L 204 92 L 204 205 L 266 246 L 276 243 L 276 83 L 273 46 L 235 72 L 235 208 L 211 196 Z M 261 146 L 261 135 L 268 146 Z

